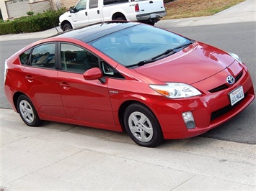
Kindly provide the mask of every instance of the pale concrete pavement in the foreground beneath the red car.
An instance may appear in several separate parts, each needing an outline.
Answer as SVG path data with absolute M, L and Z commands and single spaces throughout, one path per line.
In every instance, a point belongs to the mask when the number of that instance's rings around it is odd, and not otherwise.
M 127 134 L 0 113 L 0 190 L 256 190 L 256 145 L 195 137 L 150 149 Z

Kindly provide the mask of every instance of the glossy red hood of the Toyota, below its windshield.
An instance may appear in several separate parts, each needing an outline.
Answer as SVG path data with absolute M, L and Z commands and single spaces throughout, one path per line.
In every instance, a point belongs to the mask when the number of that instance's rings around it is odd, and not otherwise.
M 228 53 L 203 44 L 193 45 L 134 70 L 162 82 L 196 83 L 219 73 L 234 62 Z

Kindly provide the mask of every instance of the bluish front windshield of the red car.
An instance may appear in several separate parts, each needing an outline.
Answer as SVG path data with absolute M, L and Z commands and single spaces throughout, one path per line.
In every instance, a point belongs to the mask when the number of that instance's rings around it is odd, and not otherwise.
M 125 67 L 144 65 L 190 45 L 190 39 L 164 29 L 139 24 L 89 43 Z

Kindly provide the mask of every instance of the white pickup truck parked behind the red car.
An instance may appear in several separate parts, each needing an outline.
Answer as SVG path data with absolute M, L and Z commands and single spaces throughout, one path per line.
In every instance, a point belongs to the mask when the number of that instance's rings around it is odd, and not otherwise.
M 163 0 L 80 0 L 59 17 L 63 31 L 111 20 L 154 25 L 166 15 Z

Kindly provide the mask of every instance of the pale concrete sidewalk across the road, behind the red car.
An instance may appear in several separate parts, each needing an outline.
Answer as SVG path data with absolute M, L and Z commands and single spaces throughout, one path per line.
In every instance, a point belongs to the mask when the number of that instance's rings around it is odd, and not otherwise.
M 188 27 L 208 24 L 225 24 L 234 22 L 255 22 L 256 0 L 246 0 L 236 6 L 208 17 L 192 17 L 186 19 L 161 20 L 156 27 Z M 58 31 L 57 31 L 58 30 Z M 25 34 L 6 34 L 0 36 L 0 41 L 14 39 L 45 38 L 61 32 L 59 27 L 48 29 L 43 32 L 32 32 Z

